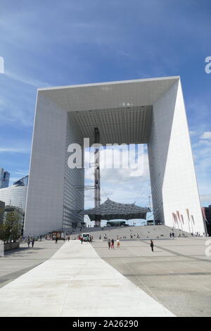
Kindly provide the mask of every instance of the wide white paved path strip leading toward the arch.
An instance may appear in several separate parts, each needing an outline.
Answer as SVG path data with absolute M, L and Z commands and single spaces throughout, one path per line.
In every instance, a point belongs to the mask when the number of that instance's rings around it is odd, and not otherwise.
M 91 244 L 65 243 L 0 289 L 0 316 L 174 316 L 103 261 Z

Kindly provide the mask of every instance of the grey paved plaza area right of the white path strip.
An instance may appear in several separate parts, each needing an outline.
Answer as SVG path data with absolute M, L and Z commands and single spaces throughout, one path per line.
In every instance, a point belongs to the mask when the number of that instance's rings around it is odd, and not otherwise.
M 211 257 L 205 256 L 209 238 L 123 241 L 108 251 L 106 242 L 94 247 L 110 266 L 143 289 L 175 316 L 211 316 Z

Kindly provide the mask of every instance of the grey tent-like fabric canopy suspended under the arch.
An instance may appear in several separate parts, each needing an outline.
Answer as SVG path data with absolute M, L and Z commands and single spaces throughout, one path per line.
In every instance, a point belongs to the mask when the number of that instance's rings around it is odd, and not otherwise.
M 90 208 L 84 211 L 84 215 L 88 215 L 90 220 L 134 220 L 137 218 L 146 220 L 146 213 L 150 212 L 150 208 L 139 207 L 135 204 L 120 204 L 118 202 L 107 199 L 97 208 Z

